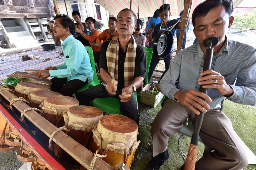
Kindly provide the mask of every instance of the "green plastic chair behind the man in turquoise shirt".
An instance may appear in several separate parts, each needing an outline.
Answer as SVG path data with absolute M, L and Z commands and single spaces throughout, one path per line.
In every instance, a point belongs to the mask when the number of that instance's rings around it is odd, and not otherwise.
M 88 89 L 90 85 L 93 85 L 93 86 L 99 85 L 99 80 L 98 80 L 98 77 L 97 77 L 97 72 L 96 72 L 95 63 L 94 63 L 93 51 L 92 51 L 91 47 L 89 47 L 89 46 L 84 46 L 84 47 L 85 47 L 85 49 L 86 49 L 86 51 L 89 55 L 89 58 L 90 58 L 91 68 L 93 70 L 93 80 L 92 80 L 91 83 L 88 83 L 88 84 L 82 86 L 81 88 L 79 88 L 76 91 L 76 93 L 79 93 L 84 89 Z

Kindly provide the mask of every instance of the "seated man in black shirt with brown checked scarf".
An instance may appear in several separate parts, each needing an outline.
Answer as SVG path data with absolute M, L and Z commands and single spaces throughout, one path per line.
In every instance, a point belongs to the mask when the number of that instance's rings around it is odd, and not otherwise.
M 95 98 L 115 97 L 120 101 L 120 112 L 139 125 L 139 113 L 134 91 L 141 87 L 147 72 L 146 53 L 137 45 L 133 32 L 137 17 L 129 9 L 117 15 L 118 36 L 105 41 L 100 48 L 100 76 L 104 83 L 77 94 L 80 105 L 89 105 Z M 113 80 L 114 78 L 114 80 Z M 130 97 L 126 97 L 130 94 Z

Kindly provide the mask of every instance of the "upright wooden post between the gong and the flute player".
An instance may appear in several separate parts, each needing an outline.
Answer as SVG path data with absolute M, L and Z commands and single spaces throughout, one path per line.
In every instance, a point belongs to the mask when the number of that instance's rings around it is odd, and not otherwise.
M 189 13 L 189 7 L 190 4 L 188 3 L 189 0 L 185 0 L 185 5 L 184 5 L 184 12 L 183 12 L 183 17 L 182 18 L 187 18 L 188 17 L 188 13 Z M 181 23 L 181 30 L 185 30 L 185 28 L 187 27 L 186 25 L 187 20 L 182 20 Z M 183 36 L 184 36 L 185 31 L 180 31 L 180 37 L 179 37 L 179 43 L 178 43 L 178 47 L 177 47 L 177 53 L 181 50 L 182 44 L 183 44 Z

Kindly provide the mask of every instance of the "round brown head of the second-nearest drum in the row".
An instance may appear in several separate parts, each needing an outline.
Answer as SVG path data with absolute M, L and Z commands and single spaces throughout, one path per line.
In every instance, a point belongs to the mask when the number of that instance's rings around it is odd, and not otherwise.
M 103 114 L 100 109 L 91 106 L 73 106 L 68 111 L 77 117 L 97 117 Z

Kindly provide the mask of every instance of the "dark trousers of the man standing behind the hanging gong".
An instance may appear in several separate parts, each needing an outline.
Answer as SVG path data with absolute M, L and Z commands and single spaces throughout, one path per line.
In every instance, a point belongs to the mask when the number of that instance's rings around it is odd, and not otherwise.
M 172 54 L 170 53 L 167 57 L 164 58 L 164 62 L 165 62 L 165 71 L 163 73 L 163 75 L 161 76 L 160 80 L 163 78 L 163 76 L 165 75 L 165 73 L 168 71 L 169 67 L 170 67 L 170 63 L 173 59 Z M 156 58 L 155 56 L 152 56 L 151 62 L 150 62 L 150 66 L 149 66 L 149 73 L 148 73 L 148 82 L 150 82 L 150 79 L 153 75 L 153 72 L 158 64 L 158 62 L 160 61 L 159 58 Z

